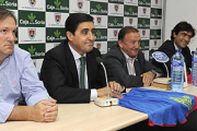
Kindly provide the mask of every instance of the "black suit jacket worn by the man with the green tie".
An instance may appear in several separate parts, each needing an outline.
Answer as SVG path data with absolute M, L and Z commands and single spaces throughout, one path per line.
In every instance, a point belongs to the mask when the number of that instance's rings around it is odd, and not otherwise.
M 101 57 L 97 49 L 86 53 L 90 90 L 79 88 L 78 71 L 73 55 L 65 40 L 46 52 L 40 70 L 40 80 L 57 103 L 90 103 L 91 88 L 106 86 L 104 71 L 95 60 Z

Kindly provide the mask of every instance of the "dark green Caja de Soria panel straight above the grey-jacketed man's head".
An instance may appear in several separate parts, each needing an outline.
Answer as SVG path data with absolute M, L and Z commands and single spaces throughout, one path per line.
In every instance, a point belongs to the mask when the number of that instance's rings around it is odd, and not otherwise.
M 134 5 L 125 5 L 125 11 L 124 11 L 124 15 L 125 16 L 138 16 L 138 7 L 134 7 Z

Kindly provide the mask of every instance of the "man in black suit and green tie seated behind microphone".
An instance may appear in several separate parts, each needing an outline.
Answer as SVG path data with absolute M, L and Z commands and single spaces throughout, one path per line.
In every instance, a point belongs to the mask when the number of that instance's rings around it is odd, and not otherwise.
M 90 103 L 106 96 L 104 71 L 96 62 L 101 52 L 93 48 L 94 32 L 91 15 L 70 14 L 66 21 L 67 40 L 46 52 L 40 80 L 57 103 Z M 111 96 L 123 97 L 120 92 L 118 83 L 109 82 Z

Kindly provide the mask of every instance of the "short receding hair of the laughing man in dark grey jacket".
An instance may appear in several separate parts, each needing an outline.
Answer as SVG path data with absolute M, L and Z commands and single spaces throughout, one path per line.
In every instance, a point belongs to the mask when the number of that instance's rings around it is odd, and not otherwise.
M 118 33 L 118 40 L 123 40 L 128 33 L 139 33 L 139 31 L 132 26 L 125 26 Z

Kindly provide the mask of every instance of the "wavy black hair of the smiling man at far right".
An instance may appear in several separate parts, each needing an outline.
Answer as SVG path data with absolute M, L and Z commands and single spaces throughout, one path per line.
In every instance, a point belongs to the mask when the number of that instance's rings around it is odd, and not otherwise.
M 182 31 L 186 31 L 186 32 L 190 32 L 192 33 L 192 37 L 195 36 L 195 28 L 187 23 L 186 21 L 179 22 L 173 29 L 171 33 L 171 40 L 174 40 L 174 35 L 173 33 L 175 33 L 176 35 L 182 32 Z

